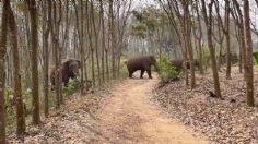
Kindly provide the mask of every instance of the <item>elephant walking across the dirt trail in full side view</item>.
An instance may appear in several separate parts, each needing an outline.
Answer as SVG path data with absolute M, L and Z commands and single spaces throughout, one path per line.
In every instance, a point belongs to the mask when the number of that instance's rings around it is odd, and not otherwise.
M 149 79 L 152 79 L 151 75 L 151 65 L 154 65 L 156 70 L 159 70 L 156 60 L 154 56 L 141 56 L 129 59 L 127 62 L 127 69 L 129 73 L 129 77 L 132 77 L 133 72 L 137 70 L 141 70 L 140 79 L 143 79 L 143 74 L 146 71 Z

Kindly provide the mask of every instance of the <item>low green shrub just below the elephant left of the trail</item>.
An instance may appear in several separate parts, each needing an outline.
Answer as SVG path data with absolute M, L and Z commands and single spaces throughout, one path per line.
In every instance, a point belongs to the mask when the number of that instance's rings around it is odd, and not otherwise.
M 62 87 L 62 93 L 66 96 L 72 95 L 74 92 L 77 92 L 80 88 L 80 80 L 77 79 L 70 79 L 67 86 Z

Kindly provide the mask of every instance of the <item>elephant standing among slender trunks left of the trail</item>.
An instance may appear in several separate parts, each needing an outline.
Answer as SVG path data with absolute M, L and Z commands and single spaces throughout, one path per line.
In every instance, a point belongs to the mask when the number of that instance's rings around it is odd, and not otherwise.
M 51 89 L 55 89 L 55 79 L 57 72 L 61 71 L 62 83 L 67 86 L 69 79 L 74 79 L 79 75 L 79 69 L 81 68 L 81 61 L 77 59 L 63 60 L 58 70 L 52 69 L 50 72 Z

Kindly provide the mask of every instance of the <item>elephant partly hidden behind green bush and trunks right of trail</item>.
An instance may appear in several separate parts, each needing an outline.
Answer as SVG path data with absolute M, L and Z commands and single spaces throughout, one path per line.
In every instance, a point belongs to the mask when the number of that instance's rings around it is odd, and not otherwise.
M 181 71 L 181 69 L 184 69 L 184 60 L 183 59 L 174 59 L 174 60 L 171 60 L 169 63 L 173 67 L 175 67 L 175 70 L 178 71 L 178 72 Z M 186 64 L 187 64 L 186 65 L 187 69 L 190 69 L 190 62 L 187 61 Z M 200 69 L 200 63 L 197 59 L 194 60 L 194 65 L 195 65 L 195 68 Z

